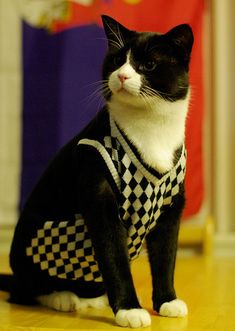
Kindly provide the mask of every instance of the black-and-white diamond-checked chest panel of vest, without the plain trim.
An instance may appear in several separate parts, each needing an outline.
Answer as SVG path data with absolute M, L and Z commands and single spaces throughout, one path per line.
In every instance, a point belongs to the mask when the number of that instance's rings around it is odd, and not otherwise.
M 138 167 L 135 158 L 131 159 L 121 145 L 116 150 L 113 138 L 106 137 L 107 151 L 117 164 L 121 181 L 120 218 L 128 229 L 128 251 L 130 259 L 136 258 L 141 250 L 147 233 L 154 228 L 163 207 L 170 205 L 173 197 L 179 193 L 180 184 L 185 177 L 186 155 L 183 147 L 177 165 L 160 179 L 148 170 Z M 138 161 L 137 161 L 138 162 Z

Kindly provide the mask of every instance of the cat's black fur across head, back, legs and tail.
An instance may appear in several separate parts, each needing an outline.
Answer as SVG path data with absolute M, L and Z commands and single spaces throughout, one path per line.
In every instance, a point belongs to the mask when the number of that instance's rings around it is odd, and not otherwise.
M 161 98 L 173 103 L 186 97 L 193 43 L 188 25 L 180 25 L 160 35 L 130 31 L 107 16 L 103 16 L 103 22 L 109 44 L 103 64 L 104 80 L 124 64 L 126 52 L 131 49 L 131 65 Z M 113 34 L 117 27 L 124 40 L 121 49 L 117 47 Z M 157 63 L 156 68 L 153 68 L 153 61 Z M 104 96 L 107 101 L 111 100 L 110 89 L 105 89 Z M 97 151 L 83 145 L 78 148 L 77 145 L 82 138 L 99 140 L 100 136 L 108 134 L 108 120 L 106 106 L 62 148 L 28 198 L 11 247 L 10 264 L 14 275 L 8 278 L 0 276 L 0 288 L 11 292 L 12 302 L 33 303 L 38 295 L 67 290 L 80 297 L 96 297 L 107 292 L 114 313 L 120 309 L 140 307 L 130 272 L 126 228 L 119 217 L 119 192 Z M 127 138 L 131 140 L 131 137 Z M 135 153 L 138 154 L 137 151 Z M 179 151 L 174 153 L 176 163 Z M 141 155 L 138 158 L 141 159 Z M 160 174 L 158 176 L 161 177 Z M 156 311 L 164 302 L 176 298 L 173 276 L 184 200 L 184 187 L 181 185 L 172 204 L 164 210 L 157 226 L 146 237 Z M 51 277 L 46 271 L 40 271 L 25 254 L 32 233 L 40 224 L 43 225 L 45 219 L 73 220 L 78 212 L 82 213 L 88 227 L 102 283 Z

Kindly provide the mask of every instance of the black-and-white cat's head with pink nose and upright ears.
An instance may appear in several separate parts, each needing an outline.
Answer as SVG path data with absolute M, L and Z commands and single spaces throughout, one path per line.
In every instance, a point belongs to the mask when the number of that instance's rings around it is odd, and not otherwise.
M 156 99 L 186 98 L 193 33 L 189 25 L 165 34 L 136 32 L 109 16 L 102 16 L 108 40 L 103 64 L 104 96 L 107 101 L 136 105 Z

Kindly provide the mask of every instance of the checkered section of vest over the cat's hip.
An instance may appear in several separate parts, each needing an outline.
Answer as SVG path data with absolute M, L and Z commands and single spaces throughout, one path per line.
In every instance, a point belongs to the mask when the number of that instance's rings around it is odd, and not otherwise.
M 45 222 L 31 240 L 26 254 L 50 276 L 102 281 L 81 215 L 76 215 L 75 222 Z

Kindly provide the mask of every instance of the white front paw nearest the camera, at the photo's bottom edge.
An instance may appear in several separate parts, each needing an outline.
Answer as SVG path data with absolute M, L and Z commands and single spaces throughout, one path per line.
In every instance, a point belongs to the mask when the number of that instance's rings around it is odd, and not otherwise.
M 115 316 L 120 326 L 141 328 L 151 324 L 151 317 L 145 309 L 120 309 Z

